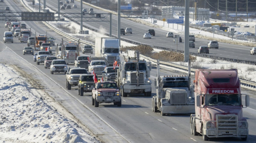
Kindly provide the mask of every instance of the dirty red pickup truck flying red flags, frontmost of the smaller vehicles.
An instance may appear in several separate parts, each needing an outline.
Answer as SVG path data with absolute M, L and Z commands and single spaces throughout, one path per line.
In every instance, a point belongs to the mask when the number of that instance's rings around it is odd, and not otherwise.
M 99 103 L 114 103 L 118 107 L 122 105 L 121 94 L 116 82 L 97 82 L 91 94 L 92 105 L 95 107 L 99 107 Z

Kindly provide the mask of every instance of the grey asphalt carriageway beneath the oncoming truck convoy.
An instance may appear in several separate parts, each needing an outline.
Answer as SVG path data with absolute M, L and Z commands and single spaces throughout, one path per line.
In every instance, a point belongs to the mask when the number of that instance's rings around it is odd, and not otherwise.
M 10 5 L 16 5 L 12 0 Z M 75 2 L 77 3 L 77 1 Z M 77 3 L 78 4 L 78 3 Z M 79 7 L 79 6 L 78 6 Z M 23 10 L 22 7 L 12 7 L 11 9 Z M 22 22 L 33 27 L 37 33 L 54 36 L 56 43 L 63 38 L 50 31 L 42 22 Z M 133 27 L 132 27 L 133 28 Z M 4 23 L 1 23 L 1 31 L 7 31 Z M 135 29 L 134 29 L 135 31 Z M 32 31 L 34 33 L 34 31 Z M 134 34 L 135 35 L 135 34 Z M 125 35 L 126 36 L 126 35 Z M 132 36 L 133 37 L 133 34 Z M 3 38 L 3 35 L 0 35 Z M 164 38 L 164 36 L 163 36 Z M 68 39 L 64 40 L 68 41 Z M 64 74 L 50 74 L 50 69 L 44 69 L 43 64 L 36 65 L 32 55 L 23 55 L 22 49 L 26 43 L 19 43 L 18 38 L 14 38 L 14 43 L 3 43 L 0 45 L 0 61 L 8 65 L 17 65 L 27 74 L 31 74 L 42 85 L 43 89 L 56 104 L 61 104 L 71 112 L 82 124 L 86 125 L 91 132 L 106 143 L 203 143 L 202 136 L 193 136 L 190 133 L 189 115 L 169 115 L 161 116 L 160 113 L 151 111 L 151 97 L 143 95 L 130 95 L 122 97 L 122 107 L 113 104 L 99 104 L 98 108 L 91 105 L 91 94 L 86 93 L 83 97 L 78 95 L 77 86 L 71 90 L 66 90 Z M 217 49 L 218 50 L 218 49 Z M 91 55 L 91 54 L 88 54 Z M 72 65 L 69 65 L 72 66 Z M 161 69 L 161 75 L 165 74 L 185 74 L 173 69 Z M 154 78 L 156 69 L 151 70 L 152 96 L 155 95 Z M 256 105 L 255 96 L 252 91 L 242 89 L 243 93 L 251 95 L 251 106 L 244 108 L 243 116 L 249 123 L 249 136 L 247 142 L 253 142 L 256 138 Z M 42 95 L 47 97 L 46 95 Z M 243 98 L 244 100 L 244 98 Z M 212 139 L 212 142 L 236 142 L 237 138 Z M 242 142 L 242 141 L 239 141 Z

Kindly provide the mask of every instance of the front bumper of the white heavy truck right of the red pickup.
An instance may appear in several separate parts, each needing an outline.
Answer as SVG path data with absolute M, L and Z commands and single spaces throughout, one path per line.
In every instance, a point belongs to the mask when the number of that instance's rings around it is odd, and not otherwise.
M 143 93 L 143 92 L 151 92 L 151 84 L 144 85 L 124 85 L 125 93 Z

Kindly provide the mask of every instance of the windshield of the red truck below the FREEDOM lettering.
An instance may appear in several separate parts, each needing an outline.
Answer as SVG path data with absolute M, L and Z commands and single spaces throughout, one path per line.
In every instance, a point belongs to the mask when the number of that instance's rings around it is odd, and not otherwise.
M 205 105 L 241 105 L 240 94 L 206 94 Z

